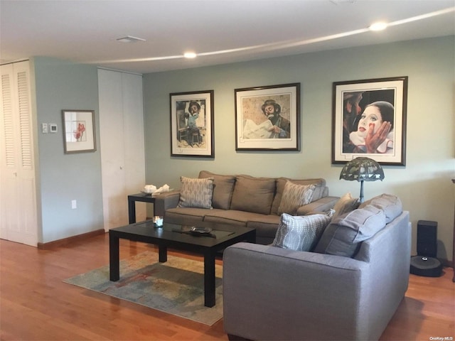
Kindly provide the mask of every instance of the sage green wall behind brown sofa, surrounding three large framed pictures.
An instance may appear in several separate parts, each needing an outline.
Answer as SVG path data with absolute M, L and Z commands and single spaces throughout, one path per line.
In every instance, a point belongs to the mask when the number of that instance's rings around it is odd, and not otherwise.
M 358 196 L 331 165 L 332 83 L 408 76 L 407 166 L 385 166 L 385 180 L 365 183 L 365 197 L 398 195 L 418 220 L 439 223 L 439 256 L 452 259 L 454 229 L 454 36 L 331 50 L 144 75 L 146 182 L 179 188 L 200 170 L 256 176 L 326 178 L 331 195 Z M 301 83 L 301 151 L 236 152 L 234 90 Z M 171 158 L 169 93 L 215 91 L 215 158 Z

